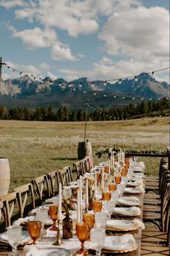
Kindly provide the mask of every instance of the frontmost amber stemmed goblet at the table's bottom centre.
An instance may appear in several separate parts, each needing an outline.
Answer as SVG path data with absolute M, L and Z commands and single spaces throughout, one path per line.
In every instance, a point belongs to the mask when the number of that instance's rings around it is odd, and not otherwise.
M 81 242 L 81 249 L 76 252 L 76 255 L 86 255 L 87 252 L 84 249 L 84 242 L 90 235 L 89 226 L 84 222 L 76 223 L 76 235 Z

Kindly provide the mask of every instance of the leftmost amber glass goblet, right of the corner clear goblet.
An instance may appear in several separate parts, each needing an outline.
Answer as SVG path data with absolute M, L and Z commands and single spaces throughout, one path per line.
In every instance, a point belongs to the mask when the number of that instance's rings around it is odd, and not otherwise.
M 33 244 L 35 244 L 35 240 L 38 236 L 40 236 L 41 231 L 41 222 L 40 221 L 29 221 L 27 223 L 28 233 L 30 234 Z

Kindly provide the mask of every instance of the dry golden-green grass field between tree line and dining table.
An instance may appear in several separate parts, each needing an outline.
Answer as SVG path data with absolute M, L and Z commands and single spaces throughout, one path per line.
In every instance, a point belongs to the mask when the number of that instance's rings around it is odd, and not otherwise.
M 84 122 L 41 122 L 0 120 L 0 157 L 9 158 L 10 189 L 32 178 L 71 165 L 78 158 L 78 144 L 84 141 Z M 87 123 L 86 138 L 95 153 L 104 148 L 166 151 L 169 145 L 169 117 Z M 102 155 L 106 159 L 107 155 Z M 146 158 L 146 171 L 155 175 L 160 158 Z

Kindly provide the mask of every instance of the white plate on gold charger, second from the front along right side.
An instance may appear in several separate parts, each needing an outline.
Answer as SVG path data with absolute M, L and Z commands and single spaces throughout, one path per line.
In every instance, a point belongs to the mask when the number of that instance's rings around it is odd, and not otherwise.
M 138 229 L 139 225 L 135 221 L 128 220 L 108 220 L 106 223 L 107 230 L 115 231 L 132 231 Z

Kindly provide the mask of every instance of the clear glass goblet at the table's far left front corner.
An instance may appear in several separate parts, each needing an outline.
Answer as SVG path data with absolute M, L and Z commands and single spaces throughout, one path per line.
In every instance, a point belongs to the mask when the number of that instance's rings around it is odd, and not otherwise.
M 8 226 L 7 236 L 9 244 L 12 247 L 12 253 L 10 253 L 9 255 L 19 255 L 19 252 L 17 252 L 17 246 L 19 245 L 19 242 L 21 242 L 22 227 L 17 225 Z

